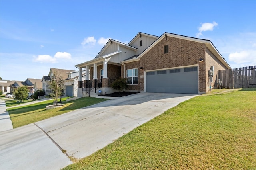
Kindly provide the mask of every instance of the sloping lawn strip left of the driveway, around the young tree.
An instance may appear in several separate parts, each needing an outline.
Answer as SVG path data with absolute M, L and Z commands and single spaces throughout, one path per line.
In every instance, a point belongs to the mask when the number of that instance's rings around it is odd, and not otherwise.
M 9 108 L 7 111 L 9 112 L 13 127 L 16 128 L 106 100 L 107 99 L 102 98 L 85 97 L 66 102 L 65 106 L 60 108 L 46 110 L 45 107 L 53 102 L 53 100 L 48 100 L 27 106 Z M 65 98 L 63 98 L 62 101 L 65 101 Z

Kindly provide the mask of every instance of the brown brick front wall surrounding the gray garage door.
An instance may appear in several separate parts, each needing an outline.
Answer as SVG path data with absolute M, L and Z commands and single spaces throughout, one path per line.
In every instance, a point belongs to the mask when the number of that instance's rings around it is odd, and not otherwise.
M 164 45 L 169 45 L 169 52 L 164 54 Z M 140 67 L 144 71 L 172 68 L 180 66 L 199 65 L 199 91 L 205 92 L 205 63 L 199 63 L 199 59 L 205 60 L 205 44 L 174 37 L 162 39 L 144 56 L 140 58 Z M 140 89 L 144 90 L 144 78 Z

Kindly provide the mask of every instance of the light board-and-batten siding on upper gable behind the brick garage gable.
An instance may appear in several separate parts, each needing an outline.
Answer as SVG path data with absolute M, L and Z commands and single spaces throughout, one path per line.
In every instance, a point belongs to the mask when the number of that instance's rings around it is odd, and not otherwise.
M 140 46 L 140 40 L 142 40 L 142 46 Z M 136 55 L 138 55 L 154 43 L 154 41 L 156 41 L 156 38 L 142 35 L 141 37 L 138 37 L 134 43 L 130 44 L 130 46 L 138 48 L 136 51 Z

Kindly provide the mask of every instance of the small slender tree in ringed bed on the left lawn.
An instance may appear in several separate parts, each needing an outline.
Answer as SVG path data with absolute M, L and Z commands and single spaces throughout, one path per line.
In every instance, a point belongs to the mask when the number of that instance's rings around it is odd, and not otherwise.
M 50 88 L 52 89 L 52 93 L 50 96 L 52 98 L 55 98 L 55 100 L 58 100 L 58 97 L 63 94 L 64 91 L 64 81 L 63 77 L 60 75 L 60 72 L 56 70 L 53 72 L 52 81 L 50 83 Z

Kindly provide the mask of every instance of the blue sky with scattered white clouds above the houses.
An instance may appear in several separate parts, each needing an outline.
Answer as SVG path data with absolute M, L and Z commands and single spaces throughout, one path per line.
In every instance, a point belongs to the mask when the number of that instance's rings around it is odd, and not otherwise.
M 0 77 L 78 70 L 138 32 L 208 39 L 232 68 L 256 65 L 256 0 L 0 0 Z

